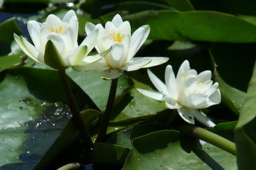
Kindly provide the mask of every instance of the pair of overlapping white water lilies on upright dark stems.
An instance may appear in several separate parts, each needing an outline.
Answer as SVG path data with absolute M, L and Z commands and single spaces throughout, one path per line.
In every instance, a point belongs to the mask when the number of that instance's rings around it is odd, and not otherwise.
M 123 70 L 153 67 L 169 60 L 168 57 L 134 57 L 149 35 L 149 26 L 142 26 L 131 35 L 129 22 L 123 22 L 119 14 L 105 28 L 87 23 L 85 30 L 87 37 L 78 46 L 78 18 L 70 10 L 62 21 L 53 14 L 45 23 L 28 21 L 28 33 L 35 46 L 16 34 L 14 39 L 36 62 L 53 69 L 71 66 L 79 71 L 100 71 L 105 79 L 116 79 Z M 94 47 L 99 54 L 87 56 Z

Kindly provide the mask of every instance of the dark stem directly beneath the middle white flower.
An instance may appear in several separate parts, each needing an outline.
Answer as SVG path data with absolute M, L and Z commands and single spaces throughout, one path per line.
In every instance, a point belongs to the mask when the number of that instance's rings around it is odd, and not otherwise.
M 112 113 L 112 108 L 114 106 L 114 98 L 117 93 L 117 82 L 118 82 L 118 78 L 112 79 L 111 87 L 110 87 L 110 94 L 107 99 L 106 111 L 103 116 L 102 125 L 100 127 L 100 132 L 97 136 L 97 142 L 103 142 L 105 140 L 107 127 L 110 123 L 110 115 Z

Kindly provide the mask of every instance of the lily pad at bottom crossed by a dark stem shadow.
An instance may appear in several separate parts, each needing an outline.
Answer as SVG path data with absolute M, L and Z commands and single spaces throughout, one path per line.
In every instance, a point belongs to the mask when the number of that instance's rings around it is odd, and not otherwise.
M 152 132 L 137 137 L 132 144 L 124 170 L 237 169 L 232 154 L 206 142 L 184 137 L 174 130 Z

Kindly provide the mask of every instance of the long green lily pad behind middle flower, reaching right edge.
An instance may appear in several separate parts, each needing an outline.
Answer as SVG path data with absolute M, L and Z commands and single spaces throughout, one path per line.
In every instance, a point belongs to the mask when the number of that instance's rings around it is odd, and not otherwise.
M 149 38 L 154 40 L 256 41 L 255 24 L 216 11 L 143 11 L 124 16 L 124 20 L 133 28 L 149 24 Z

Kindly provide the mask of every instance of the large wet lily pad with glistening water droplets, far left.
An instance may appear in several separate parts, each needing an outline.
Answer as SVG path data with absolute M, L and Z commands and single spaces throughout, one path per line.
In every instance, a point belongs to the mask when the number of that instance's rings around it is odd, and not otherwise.
M 0 150 L 5 153 L 0 156 L 0 169 L 33 169 L 71 117 L 58 73 L 23 67 L 4 70 L 0 79 Z M 80 108 L 95 108 L 71 83 Z

